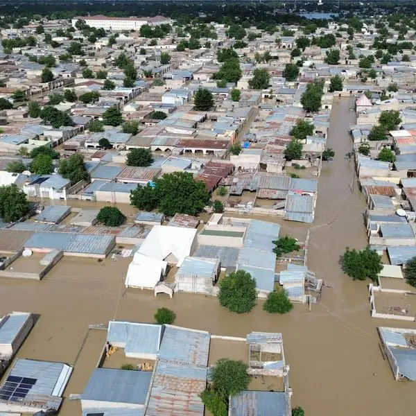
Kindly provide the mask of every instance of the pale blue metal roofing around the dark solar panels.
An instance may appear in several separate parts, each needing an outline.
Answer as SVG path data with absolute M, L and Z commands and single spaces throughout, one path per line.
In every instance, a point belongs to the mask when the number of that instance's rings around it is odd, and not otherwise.
M 52 395 L 65 367 L 67 365 L 63 363 L 17 358 L 9 376 L 36 379 L 36 383 L 30 390 L 31 395 Z

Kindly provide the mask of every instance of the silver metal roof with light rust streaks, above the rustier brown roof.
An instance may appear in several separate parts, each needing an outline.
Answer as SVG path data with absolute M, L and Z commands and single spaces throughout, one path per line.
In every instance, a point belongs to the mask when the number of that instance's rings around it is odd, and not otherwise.
M 207 367 L 209 340 L 208 332 L 166 325 L 160 345 L 160 358 L 165 361 Z

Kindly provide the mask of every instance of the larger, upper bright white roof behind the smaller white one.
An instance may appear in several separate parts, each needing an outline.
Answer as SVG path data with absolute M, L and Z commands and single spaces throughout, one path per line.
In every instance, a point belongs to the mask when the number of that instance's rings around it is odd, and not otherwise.
M 137 254 L 158 260 L 164 260 L 171 254 L 177 259 L 177 266 L 180 267 L 184 258 L 191 254 L 196 232 L 194 228 L 155 225 Z

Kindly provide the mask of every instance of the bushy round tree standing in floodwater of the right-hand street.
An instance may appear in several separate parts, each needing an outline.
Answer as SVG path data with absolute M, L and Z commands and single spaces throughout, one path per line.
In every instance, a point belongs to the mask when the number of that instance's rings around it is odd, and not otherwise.
M 370 277 L 372 281 L 376 281 L 379 272 L 383 269 L 381 256 L 369 247 L 361 251 L 347 248 L 341 257 L 341 266 L 343 272 L 353 280 L 365 280 Z

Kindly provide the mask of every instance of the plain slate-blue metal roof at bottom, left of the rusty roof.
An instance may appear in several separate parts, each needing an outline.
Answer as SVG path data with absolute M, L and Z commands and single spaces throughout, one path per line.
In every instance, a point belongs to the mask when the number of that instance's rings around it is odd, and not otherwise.
M 82 399 L 144 405 L 152 372 L 96 368 Z

